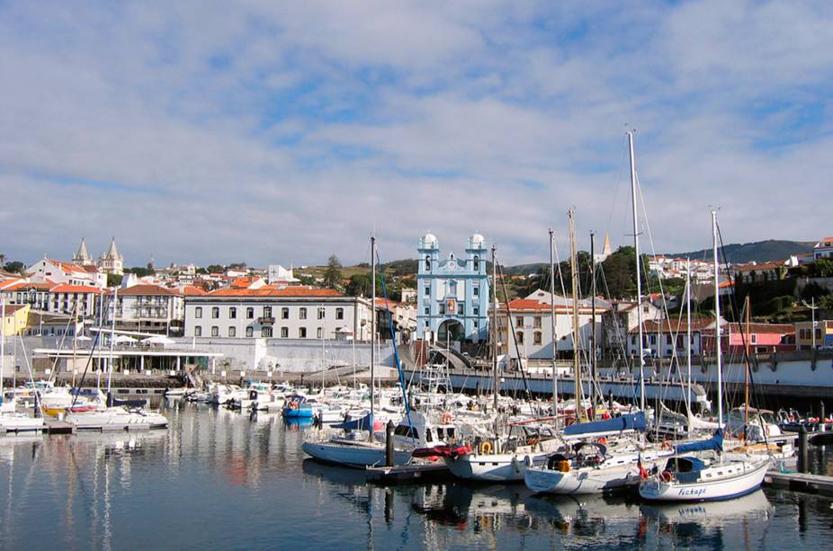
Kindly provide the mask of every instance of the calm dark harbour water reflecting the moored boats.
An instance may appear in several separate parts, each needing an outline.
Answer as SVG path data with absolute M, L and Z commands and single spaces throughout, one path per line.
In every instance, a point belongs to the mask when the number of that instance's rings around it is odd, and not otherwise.
M 0 438 L 9 549 L 831 548 L 833 501 L 534 496 L 521 486 L 382 488 L 305 459 L 280 417 L 166 407 L 168 431 Z

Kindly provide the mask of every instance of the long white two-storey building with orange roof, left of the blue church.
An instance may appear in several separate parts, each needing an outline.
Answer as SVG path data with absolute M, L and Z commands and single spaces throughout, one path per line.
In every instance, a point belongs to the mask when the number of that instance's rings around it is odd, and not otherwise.
M 336 339 L 352 332 L 371 336 L 369 299 L 344 297 L 332 289 L 265 286 L 217 289 L 185 297 L 187 337 Z

